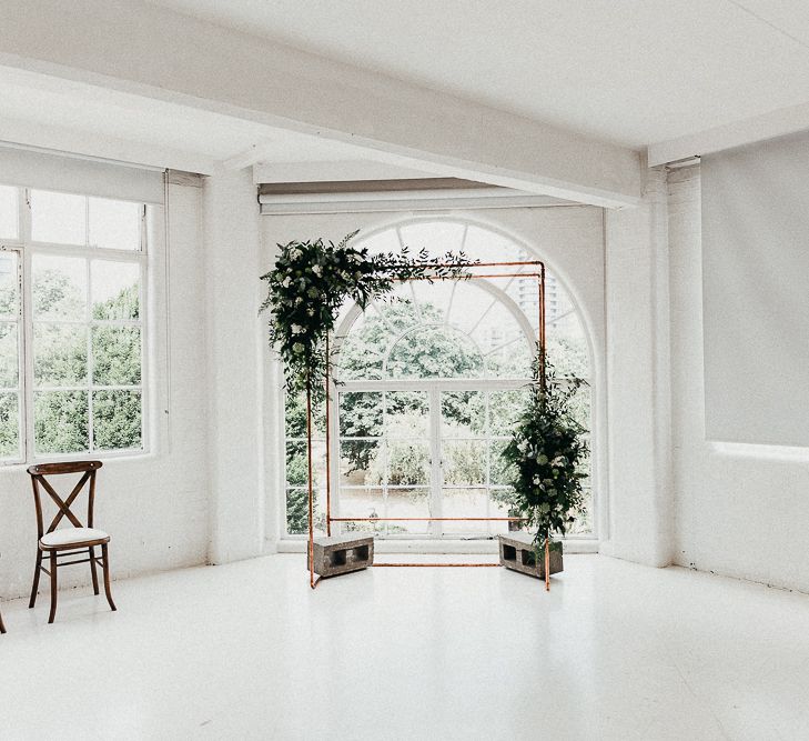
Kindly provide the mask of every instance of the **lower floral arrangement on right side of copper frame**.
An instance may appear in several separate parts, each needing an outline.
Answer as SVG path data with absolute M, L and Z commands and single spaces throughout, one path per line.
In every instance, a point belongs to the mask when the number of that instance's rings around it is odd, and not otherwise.
M 576 391 L 586 383 L 578 378 L 559 378 L 540 353 L 536 371 L 544 371 L 544 383 L 536 383 L 530 401 L 517 422 L 503 457 L 514 471 L 514 493 L 509 498 L 513 517 L 535 531 L 537 551 L 554 534 L 564 535 L 584 505 L 582 463 L 589 450 L 583 439 L 586 430 L 570 411 Z M 544 387 L 544 388 L 543 388 Z M 553 544 L 558 548 L 560 544 Z

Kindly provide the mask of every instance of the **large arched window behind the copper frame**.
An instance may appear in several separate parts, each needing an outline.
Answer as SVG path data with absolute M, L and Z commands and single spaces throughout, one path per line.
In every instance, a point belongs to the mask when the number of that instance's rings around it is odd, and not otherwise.
M 404 244 L 434 254 L 463 250 L 485 262 L 536 259 L 512 239 L 459 221 L 394 227 L 357 244 L 371 251 Z M 343 307 L 334 338 L 332 513 L 381 518 L 343 522 L 344 531 L 439 539 L 489 538 L 507 529 L 506 522 L 383 518 L 508 514 L 509 474 L 499 453 L 527 397 L 538 321 L 537 284 L 529 277 L 411 281 L 365 311 Z M 546 279 L 546 327 L 558 370 L 589 378 L 584 328 L 553 274 Z M 584 389 L 576 409 L 587 429 L 589 407 Z M 300 402 L 287 400 L 286 409 L 286 514 L 294 534 L 305 529 L 305 431 Z M 322 523 L 322 421 L 317 429 Z M 591 509 L 590 503 L 576 532 L 591 532 Z

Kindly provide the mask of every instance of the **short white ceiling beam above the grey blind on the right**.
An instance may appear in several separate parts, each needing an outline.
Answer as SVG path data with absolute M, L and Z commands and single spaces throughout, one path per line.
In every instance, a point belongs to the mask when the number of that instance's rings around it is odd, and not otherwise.
M 678 162 L 809 129 L 809 102 L 649 144 L 649 167 Z

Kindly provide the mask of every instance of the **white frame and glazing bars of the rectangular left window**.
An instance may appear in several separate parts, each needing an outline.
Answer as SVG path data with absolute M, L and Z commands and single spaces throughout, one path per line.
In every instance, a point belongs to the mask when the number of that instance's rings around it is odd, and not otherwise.
M 44 460 L 59 461 L 59 460 L 77 460 L 83 458 L 92 459 L 110 459 L 110 458 L 127 458 L 135 455 L 148 454 L 151 450 L 150 440 L 150 380 L 149 380 L 149 361 L 148 361 L 148 349 L 149 349 L 149 303 L 148 303 L 148 280 L 149 280 L 149 206 L 136 201 L 140 207 L 140 247 L 138 250 L 120 250 L 101 247 L 90 247 L 89 243 L 81 244 L 61 244 L 61 243 L 49 243 L 49 242 L 37 242 L 32 239 L 32 220 L 31 220 L 31 191 L 32 190 L 45 190 L 45 189 L 31 189 L 31 188 L 16 188 L 17 190 L 17 206 L 18 206 L 18 229 L 16 239 L 0 239 L 0 251 L 14 251 L 18 254 L 18 306 L 19 306 L 19 329 L 18 331 L 18 348 L 19 348 L 19 380 L 20 380 L 20 458 L 6 459 L 0 462 L 0 467 L 19 465 L 23 463 L 37 463 Z M 68 193 L 81 196 L 82 198 L 102 198 L 99 196 L 85 196 L 83 193 Z M 108 198 L 105 200 L 119 200 Z M 90 237 L 89 229 L 89 201 L 85 200 L 84 209 L 85 218 L 85 240 Z M 34 254 L 48 254 L 55 257 L 74 257 L 82 258 L 87 261 L 88 270 L 88 291 L 90 290 L 90 269 L 91 262 L 94 260 L 108 260 L 112 262 L 129 262 L 139 266 L 140 273 L 140 307 L 139 313 L 140 319 L 138 320 L 94 320 L 90 314 L 91 297 L 88 294 L 88 316 L 83 321 L 74 322 L 77 326 L 83 326 L 88 328 L 88 381 L 85 385 L 82 385 L 80 390 L 87 390 L 88 392 L 88 440 L 90 442 L 90 450 L 77 451 L 70 453 L 37 453 L 34 444 L 34 390 L 33 390 L 33 299 L 32 299 L 32 258 Z M 62 323 L 62 322 L 60 322 Z M 64 322 L 67 323 L 67 322 Z M 92 380 L 92 368 L 91 366 L 91 343 L 92 343 L 92 328 L 95 326 L 114 326 L 114 327 L 139 327 L 141 330 L 141 380 L 139 385 L 128 387 L 110 387 L 110 385 L 95 385 Z M 114 390 L 117 388 L 125 390 L 139 390 L 141 393 L 141 447 L 135 449 L 127 450 L 108 450 L 108 449 L 93 449 L 93 412 L 92 412 L 92 395 L 94 391 Z M 75 387 L 79 389 L 79 387 Z M 51 390 L 51 389 L 49 389 Z M 54 387 L 53 391 L 61 390 L 73 390 L 73 387 Z

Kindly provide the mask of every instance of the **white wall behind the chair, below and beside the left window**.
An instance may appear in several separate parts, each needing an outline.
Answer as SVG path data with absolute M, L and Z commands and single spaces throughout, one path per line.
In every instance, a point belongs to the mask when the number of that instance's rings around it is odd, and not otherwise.
M 162 246 L 150 257 L 150 367 L 152 451 L 109 459 L 98 474 L 98 527 L 112 535 L 114 578 L 204 563 L 208 557 L 202 189 L 171 186 L 169 200 L 169 293 L 166 322 Z M 166 343 L 168 330 L 168 343 Z M 171 366 L 166 383 L 165 348 Z M 168 413 L 165 412 L 168 410 Z M 82 499 L 82 507 L 85 505 Z M 37 553 L 37 524 L 26 467 L 0 469 L 0 598 L 28 594 Z M 87 564 L 60 572 L 63 585 L 89 583 Z M 40 583 L 47 589 L 47 575 Z M 43 599 L 43 598 L 40 598 Z

